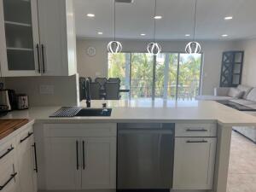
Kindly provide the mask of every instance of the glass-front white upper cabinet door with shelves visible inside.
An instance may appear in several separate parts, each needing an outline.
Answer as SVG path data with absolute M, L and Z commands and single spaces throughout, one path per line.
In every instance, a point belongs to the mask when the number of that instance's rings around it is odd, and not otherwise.
M 3 77 L 40 75 L 37 0 L 0 0 Z

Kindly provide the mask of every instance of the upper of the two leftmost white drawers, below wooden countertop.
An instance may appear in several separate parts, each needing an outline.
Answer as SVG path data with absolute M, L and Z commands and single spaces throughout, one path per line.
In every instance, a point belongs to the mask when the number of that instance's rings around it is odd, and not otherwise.
M 14 163 L 15 156 L 15 139 L 11 139 L 8 142 L 0 144 L 0 167 L 5 162 Z M 0 168 L 1 169 L 1 168 Z

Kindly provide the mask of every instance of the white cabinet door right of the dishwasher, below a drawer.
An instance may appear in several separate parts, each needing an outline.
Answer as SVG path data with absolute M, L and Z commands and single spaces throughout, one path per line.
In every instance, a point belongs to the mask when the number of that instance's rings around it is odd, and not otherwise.
M 216 138 L 176 137 L 173 189 L 212 189 Z

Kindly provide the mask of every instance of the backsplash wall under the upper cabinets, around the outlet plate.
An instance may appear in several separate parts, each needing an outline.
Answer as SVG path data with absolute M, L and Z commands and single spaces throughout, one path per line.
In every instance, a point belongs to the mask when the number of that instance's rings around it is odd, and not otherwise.
M 53 86 L 54 92 L 40 93 L 41 85 Z M 19 77 L 5 78 L 5 88 L 25 93 L 30 107 L 73 106 L 78 103 L 78 75 L 70 77 Z

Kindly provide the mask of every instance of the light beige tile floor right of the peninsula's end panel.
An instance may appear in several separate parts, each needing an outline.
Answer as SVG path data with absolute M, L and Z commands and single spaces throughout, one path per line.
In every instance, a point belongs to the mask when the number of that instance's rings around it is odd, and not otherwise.
M 227 192 L 256 192 L 256 144 L 233 131 Z

